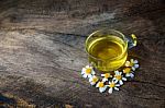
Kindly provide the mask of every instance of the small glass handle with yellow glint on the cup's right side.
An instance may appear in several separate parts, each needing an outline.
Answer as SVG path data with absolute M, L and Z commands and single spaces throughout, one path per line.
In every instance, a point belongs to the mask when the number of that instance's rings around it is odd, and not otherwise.
M 131 36 L 128 36 L 127 39 L 128 39 L 129 49 L 136 46 L 136 36 L 134 34 L 131 34 Z

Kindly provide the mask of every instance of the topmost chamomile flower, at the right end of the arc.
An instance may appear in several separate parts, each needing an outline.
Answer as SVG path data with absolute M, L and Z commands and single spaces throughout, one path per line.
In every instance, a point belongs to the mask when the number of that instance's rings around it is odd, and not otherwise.
M 140 65 L 138 60 L 131 59 L 130 61 L 125 62 L 125 67 L 131 67 L 131 69 L 135 71 L 135 69 L 138 69 Z

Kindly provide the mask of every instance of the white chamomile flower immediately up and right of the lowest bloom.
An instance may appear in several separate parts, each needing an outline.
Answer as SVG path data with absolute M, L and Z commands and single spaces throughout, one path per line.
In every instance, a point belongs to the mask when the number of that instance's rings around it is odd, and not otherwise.
M 119 82 L 120 85 L 123 84 L 123 81 L 127 81 L 127 79 L 123 77 L 122 72 L 119 71 L 114 71 L 114 77 L 112 80 L 114 81 L 114 83 Z

